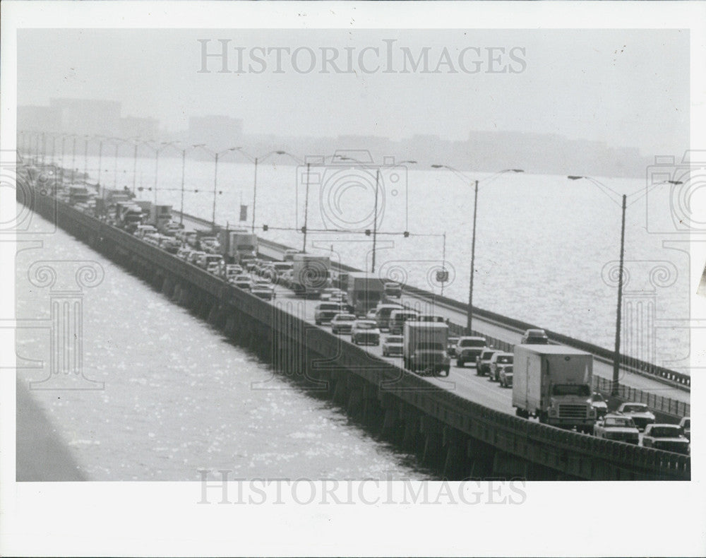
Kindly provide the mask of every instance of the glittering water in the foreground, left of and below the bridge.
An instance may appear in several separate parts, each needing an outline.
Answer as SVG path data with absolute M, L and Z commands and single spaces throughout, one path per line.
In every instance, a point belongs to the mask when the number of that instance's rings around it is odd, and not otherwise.
M 50 229 L 34 215 L 31 230 Z M 95 260 L 105 272 L 83 299 L 83 367 L 104 389 L 30 391 L 90 480 L 199 480 L 199 469 L 232 478 L 431 477 L 65 232 L 31 239 L 43 247 L 18 253 L 19 318 L 49 318 L 48 288 L 28 281 L 32 262 Z M 19 328 L 17 343 L 20 363 L 49 362 L 47 330 Z M 23 382 L 47 374 L 18 371 Z

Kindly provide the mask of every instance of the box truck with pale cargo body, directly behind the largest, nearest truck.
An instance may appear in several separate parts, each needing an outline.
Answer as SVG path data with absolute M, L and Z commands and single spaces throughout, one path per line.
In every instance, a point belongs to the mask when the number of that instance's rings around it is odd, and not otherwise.
M 433 376 L 448 376 L 448 326 L 433 321 L 405 321 L 402 357 L 405 368 Z

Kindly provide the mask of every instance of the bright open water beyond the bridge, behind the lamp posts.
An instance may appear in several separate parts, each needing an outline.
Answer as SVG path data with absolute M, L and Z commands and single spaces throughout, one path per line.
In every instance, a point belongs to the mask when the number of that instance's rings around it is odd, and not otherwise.
M 166 152 L 165 152 L 166 153 Z M 234 162 L 227 154 L 218 166 L 216 220 L 237 223 L 240 203 L 249 206 L 251 223 L 253 165 Z M 68 162 L 68 160 L 67 160 Z M 301 247 L 299 228 L 304 224 L 306 173 L 291 166 L 283 155 L 258 166 L 256 228 L 265 238 Z M 83 170 L 83 160 L 76 166 Z M 103 158 L 103 182 L 109 187 L 153 188 L 155 160 Z M 339 165 L 340 166 L 340 165 Z M 117 168 L 117 172 L 114 172 Z M 88 158 L 97 174 L 97 158 Z M 184 209 L 211 219 L 213 162 L 187 160 Z M 481 174 L 479 179 L 489 175 Z M 397 179 L 397 182 L 393 182 Z M 599 177 L 611 191 L 587 180 L 532 174 L 503 174 L 481 182 L 477 216 L 474 304 L 528 321 L 544 328 L 614 348 L 617 285 L 606 266 L 620 253 L 621 208 L 619 194 L 630 194 L 626 214 L 626 303 L 654 307 L 654 323 L 624 317 L 622 352 L 666 367 L 688 366 L 688 328 L 674 327 L 670 319 L 689 316 L 688 255 L 678 243 L 663 242 L 669 235 L 652 234 L 646 227 L 647 198 L 643 179 Z M 375 171 L 364 173 L 349 166 L 312 167 L 309 178 L 308 227 L 372 229 Z M 385 277 L 441 292 L 436 270 L 441 269 L 443 233 L 445 268 L 450 282 L 444 294 L 468 299 L 471 259 L 473 190 L 447 170 L 419 170 L 414 165 L 381 172 L 378 187 L 378 249 L 376 271 Z M 361 186 L 362 185 L 362 186 Z M 162 155 L 157 172 L 157 201 L 181 206 L 181 159 Z M 609 194 L 609 195 L 607 195 Z M 664 198 L 650 219 L 669 219 Z M 138 192 L 155 198 L 155 192 Z M 691 201 L 693 203 L 693 200 Z M 268 232 L 262 225 L 270 226 Z M 275 230 L 275 227 L 294 230 Z M 409 238 L 400 234 L 412 232 Z M 358 268 L 371 268 L 371 237 L 364 234 L 310 232 L 307 249 L 329 254 Z M 666 270 L 666 275 L 660 269 Z M 660 279 L 661 277 L 661 279 Z

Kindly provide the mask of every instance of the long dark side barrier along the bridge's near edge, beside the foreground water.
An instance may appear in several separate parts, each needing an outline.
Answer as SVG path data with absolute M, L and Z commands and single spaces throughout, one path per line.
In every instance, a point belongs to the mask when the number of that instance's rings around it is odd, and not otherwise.
M 214 300 L 237 304 L 240 311 L 272 328 L 276 312 L 273 304 L 249 295 L 191 264 L 167 254 L 158 247 L 141 242 L 133 235 L 85 215 L 63 202 L 38 196 L 33 209 L 56 224 L 83 237 L 90 244 L 116 251 L 123 256 L 139 257 L 155 271 L 172 273 L 187 284 L 198 285 Z M 275 309 L 275 311 L 273 311 Z M 686 480 L 690 478 L 690 458 L 676 453 L 622 444 L 616 441 L 566 432 L 548 425 L 491 410 L 462 398 L 430 381 L 410 374 L 390 362 L 374 357 L 359 347 L 342 341 L 323 328 L 312 326 L 289 314 L 288 327 L 297 324 L 300 331 L 313 335 L 297 335 L 313 352 L 323 353 L 328 366 L 345 364 L 352 374 L 359 374 L 381 393 L 389 392 L 448 427 L 467 434 L 533 463 L 581 478 L 635 478 Z M 282 338 L 285 338 L 282 336 Z M 385 382 L 390 384 L 385 388 Z

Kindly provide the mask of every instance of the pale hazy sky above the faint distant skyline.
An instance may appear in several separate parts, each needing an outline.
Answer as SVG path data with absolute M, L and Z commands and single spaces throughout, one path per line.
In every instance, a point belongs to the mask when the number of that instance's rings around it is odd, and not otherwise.
M 123 116 L 170 130 L 190 115 L 228 114 L 245 133 L 277 135 L 462 140 L 517 130 L 648 156 L 688 142 L 688 31 L 23 30 L 18 39 L 19 105 L 118 100 Z M 219 57 L 199 72 L 200 39 L 211 54 L 228 41 L 228 73 Z

